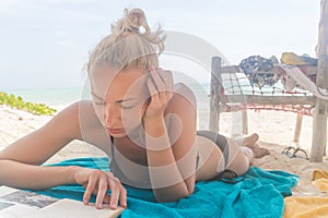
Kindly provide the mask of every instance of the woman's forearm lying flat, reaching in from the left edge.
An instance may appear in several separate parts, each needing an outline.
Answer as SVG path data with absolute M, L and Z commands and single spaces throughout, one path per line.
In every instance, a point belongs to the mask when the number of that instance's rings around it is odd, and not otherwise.
M 74 183 L 77 167 L 32 166 L 13 160 L 0 160 L 0 185 L 44 190 Z

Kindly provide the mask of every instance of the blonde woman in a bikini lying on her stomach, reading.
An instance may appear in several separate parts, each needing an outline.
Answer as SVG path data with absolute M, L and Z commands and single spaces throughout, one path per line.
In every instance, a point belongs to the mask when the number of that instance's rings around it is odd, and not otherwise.
M 152 189 L 157 202 L 178 201 L 194 192 L 196 182 L 226 171 L 241 175 L 253 157 L 267 155 L 256 144 L 257 134 L 238 145 L 196 130 L 194 93 L 159 68 L 164 39 L 161 29 L 150 29 L 142 10 L 125 10 L 90 55 L 92 99 L 67 107 L 1 150 L 0 185 L 43 190 L 79 183 L 85 187 L 84 204 L 94 194 L 97 208 L 103 203 L 126 207 L 122 184 Z M 40 166 L 73 140 L 104 150 L 110 172 Z

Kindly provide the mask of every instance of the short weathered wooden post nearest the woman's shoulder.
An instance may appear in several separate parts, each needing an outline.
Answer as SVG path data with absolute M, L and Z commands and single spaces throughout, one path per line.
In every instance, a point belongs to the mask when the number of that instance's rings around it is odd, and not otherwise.
M 210 87 L 210 131 L 219 133 L 220 124 L 220 90 L 221 90 L 221 58 L 212 57 Z

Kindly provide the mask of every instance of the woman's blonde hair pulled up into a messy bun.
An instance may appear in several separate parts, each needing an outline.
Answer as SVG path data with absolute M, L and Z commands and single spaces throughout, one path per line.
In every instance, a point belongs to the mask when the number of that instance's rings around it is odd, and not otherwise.
M 142 29 L 142 33 L 140 32 Z M 159 66 L 157 56 L 164 50 L 161 26 L 152 31 L 141 9 L 124 10 L 124 16 L 112 24 L 112 34 L 103 38 L 92 51 L 87 71 L 99 65 L 115 69 L 130 66 L 148 70 Z

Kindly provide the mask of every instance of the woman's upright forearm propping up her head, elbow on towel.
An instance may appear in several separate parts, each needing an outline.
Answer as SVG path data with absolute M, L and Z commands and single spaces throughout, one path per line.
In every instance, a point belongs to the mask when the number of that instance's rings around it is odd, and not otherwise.
M 190 191 L 177 167 L 164 119 L 144 121 L 143 124 L 150 178 L 156 199 L 168 202 L 186 197 Z

